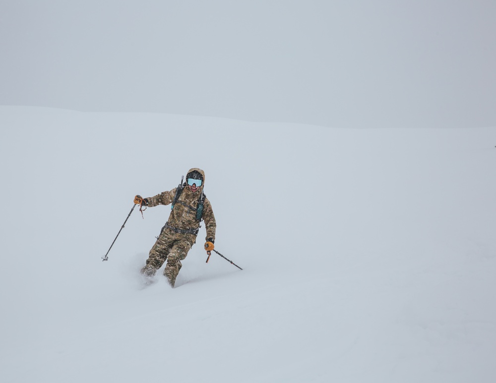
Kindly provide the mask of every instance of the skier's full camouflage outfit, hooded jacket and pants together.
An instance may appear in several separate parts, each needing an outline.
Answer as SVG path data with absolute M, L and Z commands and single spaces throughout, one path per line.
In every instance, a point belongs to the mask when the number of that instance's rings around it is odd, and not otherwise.
M 202 174 L 202 185 L 194 193 L 192 193 L 187 186 L 183 189 L 183 192 L 174 205 L 174 209 L 172 210 L 167 221 L 169 226 L 182 230 L 196 229 L 200 225 L 200 222 L 196 220 L 196 207 L 198 206 L 198 200 L 201 196 L 203 186 L 205 185 L 205 173 L 203 170 L 198 168 L 189 169 L 188 173 L 193 170 L 196 170 Z M 175 195 L 176 188 L 160 193 L 154 197 L 148 197 L 147 206 L 154 207 L 158 205 L 169 205 L 174 200 Z M 205 240 L 208 238 L 215 240 L 215 229 L 217 225 L 215 223 L 212 206 L 207 198 L 205 198 L 203 202 L 202 218 L 207 232 Z M 176 277 L 182 267 L 181 261 L 186 258 L 186 255 L 195 243 L 195 240 L 196 236 L 194 234 L 177 233 L 171 228 L 165 228 L 160 233 L 157 242 L 155 242 L 155 245 L 153 245 L 150 250 L 148 259 L 146 260 L 146 265 L 143 269 L 141 269 L 141 273 L 146 276 L 153 276 L 167 260 L 164 275 L 169 280 L 171 286 L 174 287 Z

